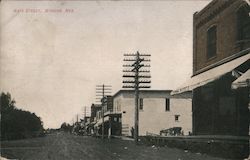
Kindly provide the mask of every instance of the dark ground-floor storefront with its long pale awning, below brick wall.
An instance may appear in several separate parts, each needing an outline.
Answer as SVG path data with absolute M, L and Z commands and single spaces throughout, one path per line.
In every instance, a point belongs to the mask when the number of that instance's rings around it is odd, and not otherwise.
M 249 66 L 247 54 L 193 76 L 172 92 L 193 91 L 194 135 L 249 134 L 249 88 L 241 87 L 246 86 L 242 81 L 249 77 Z

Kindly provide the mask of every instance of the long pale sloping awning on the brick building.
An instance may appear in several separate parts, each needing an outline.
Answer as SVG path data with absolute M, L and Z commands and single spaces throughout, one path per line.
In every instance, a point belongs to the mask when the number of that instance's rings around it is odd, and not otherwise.
M 224 74 L 231 72 L 233 69 L 237 68 L 244 62 L 250 59 L 250 54 L 244 55 L 237 59 L 234 59 L 230 62 L 222 64 L 218 67 L 212 68 L 208 71 L 200 73 L 196 76 L 193 76 L 186 83 L 184 83 L 181 87 L 171 92 L 171 95 L 180 94 L 183 92 L 191 91 L 197 87 L 203 86 L 209 82 L 212 82 L 216 79 L 219 79 Z

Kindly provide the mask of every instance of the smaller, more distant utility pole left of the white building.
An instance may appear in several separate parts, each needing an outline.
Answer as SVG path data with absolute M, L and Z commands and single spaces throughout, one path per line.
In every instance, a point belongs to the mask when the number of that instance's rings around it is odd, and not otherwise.
M 97 99 L 99 99 L 101 101 L 101 105 L 102 105 L 102 139 L 104 139 L 104 104 L 107 101 L 106 96 L 108 94 L 111 94 L 111 87 L 110 85 L 97 85 L 96 86 L 96 96 L 99 97 Z

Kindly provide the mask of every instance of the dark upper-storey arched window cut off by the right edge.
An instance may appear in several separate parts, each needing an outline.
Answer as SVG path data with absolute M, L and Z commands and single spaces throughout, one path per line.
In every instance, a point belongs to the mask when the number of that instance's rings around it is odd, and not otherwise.
M 238 40 L 250 39 L 250 7 L 248 5 L 240 7 L 237 11 Z

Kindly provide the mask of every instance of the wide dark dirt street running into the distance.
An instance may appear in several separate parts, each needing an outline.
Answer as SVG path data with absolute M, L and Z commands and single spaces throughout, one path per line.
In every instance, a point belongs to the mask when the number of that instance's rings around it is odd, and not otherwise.
M 135 145 L 130 140 L 103 141 L 63 132 L 42 138 L 2 142 L 1 155 L 8 159 L 32 160 L 220 160 L 174 148 Z

